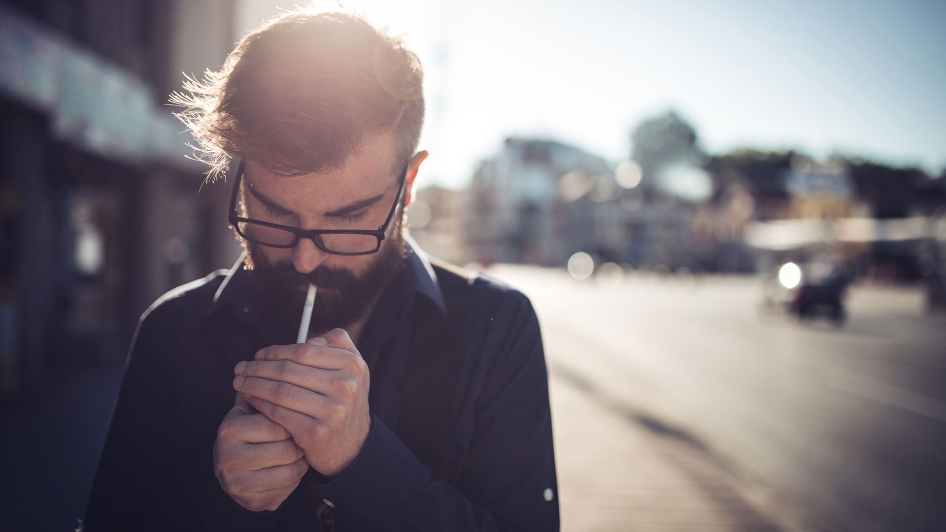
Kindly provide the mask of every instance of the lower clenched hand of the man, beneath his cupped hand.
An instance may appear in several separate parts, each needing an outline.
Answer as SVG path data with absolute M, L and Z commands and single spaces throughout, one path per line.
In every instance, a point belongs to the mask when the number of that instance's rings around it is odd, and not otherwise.
M 269 417 L 251 414 L 249 403 L 237 392 L 214 442 L 220 488 L 248 510 L 274 510 L 299 486 L 307 470 L 302 449 L 286 429 Z

